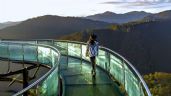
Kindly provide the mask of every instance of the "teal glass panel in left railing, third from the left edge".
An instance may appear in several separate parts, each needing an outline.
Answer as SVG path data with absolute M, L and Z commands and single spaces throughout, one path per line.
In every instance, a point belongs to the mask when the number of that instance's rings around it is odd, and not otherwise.
M 38 61 L 37 46 L 24 45 L 24 60 L 25 61 Z

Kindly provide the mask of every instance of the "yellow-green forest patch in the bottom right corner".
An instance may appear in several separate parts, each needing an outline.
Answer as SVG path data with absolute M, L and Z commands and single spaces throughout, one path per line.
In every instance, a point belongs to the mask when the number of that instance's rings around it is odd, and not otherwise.
M 171 96 L 171 74 L 155 72 L 144 76 L 153 96 Z

